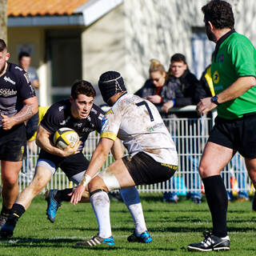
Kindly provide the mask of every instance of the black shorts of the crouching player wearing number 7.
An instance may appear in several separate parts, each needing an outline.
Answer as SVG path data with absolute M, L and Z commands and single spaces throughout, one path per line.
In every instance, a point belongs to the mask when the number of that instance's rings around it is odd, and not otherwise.
M 177 166 L 156 162 L 154 158 L 143 152 L 135 154 L 133 157 L 122 158 L 127 170 L 133 178 L 135 185 L 150 185 L 158 182 L 165 182 L 170 179 Z

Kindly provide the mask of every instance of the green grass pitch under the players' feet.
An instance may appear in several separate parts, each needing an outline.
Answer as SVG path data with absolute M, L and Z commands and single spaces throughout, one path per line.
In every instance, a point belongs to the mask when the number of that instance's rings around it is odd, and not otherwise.
M 128 243 L 134 230 L 123 202 L 111 201 L 110 215 L 115 246 L 77 248 L 76 242 L 97 234 L 97 222 L 90 204 L 72 206 L 65 202 L 54 224 L 46 220 L 46 202 L 35 198 L 19 220 L 14 237 L 0 240 L 0 255 L 255 255 L 256 213 L 250 202 L 231 202 L 228 210 L 230 251 L 190 252 L 190 242 L 202 240 L 202 231 L 210 230 L 210 213 L 206 202 L 200 205 L 182 199 L 177 204 L 162 202 L 162 194 L 142 194 L 146 223 L 153 242 Z

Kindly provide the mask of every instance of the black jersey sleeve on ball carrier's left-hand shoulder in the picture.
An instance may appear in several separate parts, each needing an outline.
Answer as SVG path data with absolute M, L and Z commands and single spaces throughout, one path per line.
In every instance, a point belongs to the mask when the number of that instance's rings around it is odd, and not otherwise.
M 42 118 L 41 126 L 48 130 L 50 133 L 54 134 L 56 130 L 60 127 L 60 124 L 64 120 L 64 107 L 58 103 L 50 106 L 46 114 Z

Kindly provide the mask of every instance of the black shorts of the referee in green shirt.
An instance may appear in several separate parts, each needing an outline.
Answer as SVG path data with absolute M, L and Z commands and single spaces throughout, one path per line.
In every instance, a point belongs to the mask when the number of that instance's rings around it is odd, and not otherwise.
M 234 120 L 215 118 L 208 142 L 238 151 L 244 158 L 256 158 L 256 114 Z

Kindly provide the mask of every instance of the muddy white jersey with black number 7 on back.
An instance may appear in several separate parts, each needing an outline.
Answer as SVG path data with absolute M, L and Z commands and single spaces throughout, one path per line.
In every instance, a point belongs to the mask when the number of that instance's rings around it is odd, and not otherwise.
M 129 154 L 149 154 L 157 162 L 178 165 L 178 154 L 158 109 L 134 94 L 123 94 L 102 119 L 102 138 L 120 138 Z

